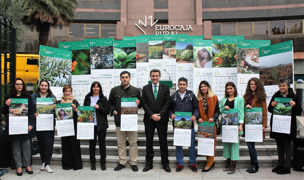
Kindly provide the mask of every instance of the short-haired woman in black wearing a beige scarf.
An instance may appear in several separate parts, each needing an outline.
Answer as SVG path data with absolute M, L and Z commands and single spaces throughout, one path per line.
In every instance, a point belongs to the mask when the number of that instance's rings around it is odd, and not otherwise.
M 74 120 L 74 136 L 64 136 L 61 137 L 61 147 L 62 147 L 62 169 L 73 170 L 82 169 L 82 159 L 81 159 L 81 149 L 80 149 L 80 139 L 77 139 L 77 109 L 79 103 L 74 99 L 72 94 L 73 88 L 71 86 L 65 86 L 62 89 L 63 96 L 61 100 L 57 100 L 56 104 L 72 103 L 73 107 L 73 120 Z M 54 107 L 56 107 L 54 104 Z

